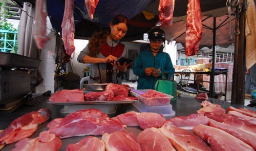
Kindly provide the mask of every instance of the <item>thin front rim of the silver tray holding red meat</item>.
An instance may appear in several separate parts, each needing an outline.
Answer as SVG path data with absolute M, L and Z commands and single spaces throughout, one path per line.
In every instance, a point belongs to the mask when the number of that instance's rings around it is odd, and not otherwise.
M 84 101 L 84 102 L 47 102 L 52 105 L 84 105 L 84 104 L 125 104 L 133 103 L 137 100 L 120 100 L 120 101 Z

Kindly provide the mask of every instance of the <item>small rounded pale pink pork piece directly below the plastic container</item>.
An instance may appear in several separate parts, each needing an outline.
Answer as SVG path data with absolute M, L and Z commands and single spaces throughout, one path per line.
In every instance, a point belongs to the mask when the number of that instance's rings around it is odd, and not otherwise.
M 145 130 L 151 127 L 161 127 L 166 120 L 164 116 L 158 113 L 142 112 L 137 115 L 140 127 Z

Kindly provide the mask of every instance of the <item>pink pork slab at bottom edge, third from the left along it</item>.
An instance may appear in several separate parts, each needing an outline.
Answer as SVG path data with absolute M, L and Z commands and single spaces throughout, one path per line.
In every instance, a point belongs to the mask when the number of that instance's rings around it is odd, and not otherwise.
M 104 133 L 101 137 L 106 146 L 106 151 L 111 150 L 134 150 L 139 151 L 141 147 L 136 141 L 133 133 L 125 131 L 116 131 L 114 133 Z

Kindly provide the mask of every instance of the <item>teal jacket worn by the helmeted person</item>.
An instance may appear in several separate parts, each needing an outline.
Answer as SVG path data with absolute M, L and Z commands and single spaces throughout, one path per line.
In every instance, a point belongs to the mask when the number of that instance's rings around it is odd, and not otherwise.
M 161 70 L 161 73 L 173 73 L 169 74 L 168 77 L 174 76 L 174 66 L 168 53 L 158 52 L 154 57 L 150 49 L 141 52 L 135 60 L 133 67 L 133 73 L 139 76 L 137 89 L 155 89 L 157 80 L 162 79 L 162 75 L 159 77 L 147 76 L 145 69 L 155 67 Z

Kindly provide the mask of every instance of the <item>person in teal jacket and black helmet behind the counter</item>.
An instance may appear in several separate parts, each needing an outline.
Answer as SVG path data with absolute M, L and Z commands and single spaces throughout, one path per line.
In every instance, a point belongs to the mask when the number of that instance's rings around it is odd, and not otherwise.
M 162 29 L 152 29 L 148 34 L 150 44 L 148 50 L 136 58 L 133 73 L 139 76 L 137 89 L 155 89 L 157 80 L 162 78 L 159 73 L 174 73 L 172 60 L 169 54 L 163 52 L 165 33 Z M 162 46 L 163 45 L 163 46 Z M 169 74 L 172 77 L 174 74 Z

